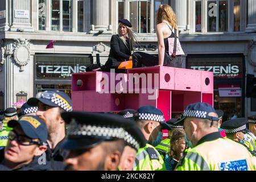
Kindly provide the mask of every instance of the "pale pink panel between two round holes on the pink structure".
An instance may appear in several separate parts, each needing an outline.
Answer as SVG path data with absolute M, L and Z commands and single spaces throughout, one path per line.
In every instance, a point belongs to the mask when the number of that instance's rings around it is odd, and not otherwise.
M 201 71 L 175 68 L 174 90 L 201 91 Z

